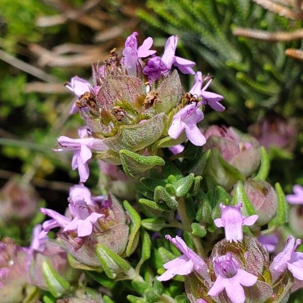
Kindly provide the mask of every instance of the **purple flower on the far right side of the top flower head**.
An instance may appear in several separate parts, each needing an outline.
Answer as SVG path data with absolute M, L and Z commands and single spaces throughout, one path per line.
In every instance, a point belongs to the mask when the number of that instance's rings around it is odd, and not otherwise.
M 223 112 L 225 110 L 225 107 L 219 102 L 222 101 L 224 97 L 217 93 L 206 90 L 213 81 L 213 78 L 211 78 L 206 83 L 206 85 L 202 87 L 204 80 L 205 79 L 203 78 L 202 73 L 197 72 L 194 76 L 193 86 L 191 87 L 189 92 L 193 95 L 197 95 L 198 97 L 202 97 L 203 103 L 208 104 L 215 111 Z

